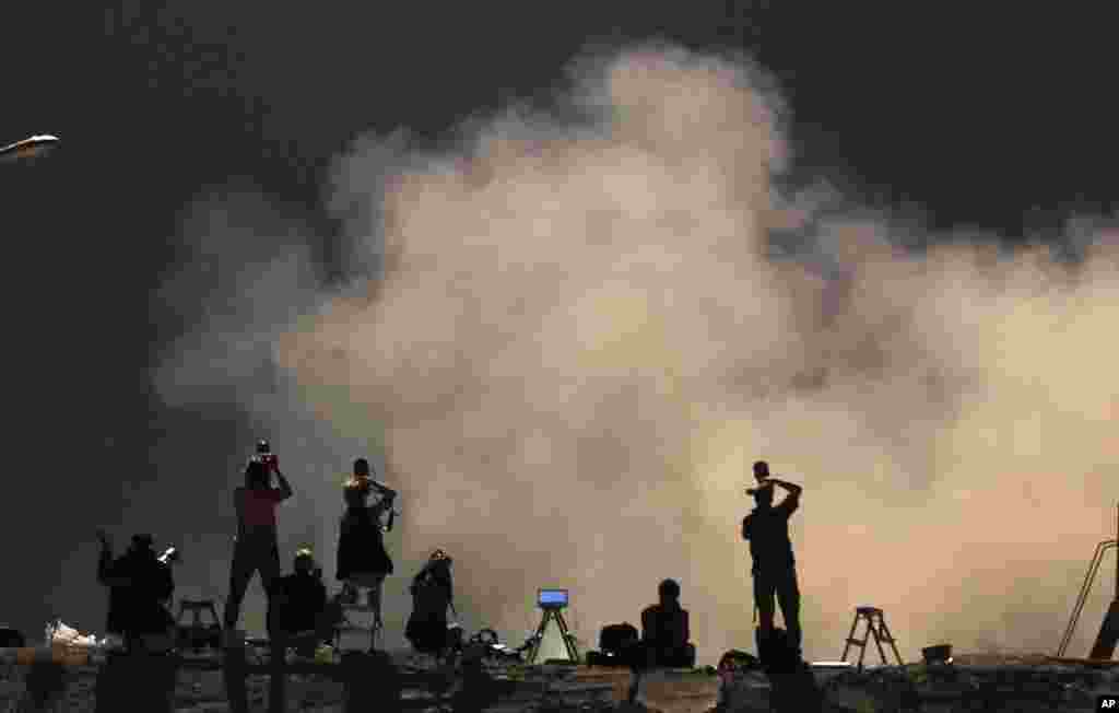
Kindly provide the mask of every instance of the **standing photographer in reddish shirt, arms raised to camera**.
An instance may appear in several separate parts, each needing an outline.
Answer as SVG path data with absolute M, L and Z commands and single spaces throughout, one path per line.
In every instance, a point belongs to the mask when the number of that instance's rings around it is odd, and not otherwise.
M 280 482 L 272 487 L 272 473 Z M 276 538 L 276 507 L 293 495 L 291 484 L 280 472 L 280 461 L 267 441 L 256 445 L 245 467 L 245 485 L 233 492 L 237 512 L 237 537 L 234 541 L 229 571 L 229 598 L 225 603 L 225 628 L 233 631 L 241 618 L 241 603 L 253 574 L 261 573 L 261 583 L 271 600 L 280 578 L 280 545 Z

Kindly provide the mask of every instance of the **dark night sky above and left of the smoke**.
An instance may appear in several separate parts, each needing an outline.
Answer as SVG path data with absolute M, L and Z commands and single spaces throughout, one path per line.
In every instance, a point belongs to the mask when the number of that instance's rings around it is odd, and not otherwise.
M 348 141 L 397 126 L 435 138 L 509 97 L 544 96 L 591 41 L 747 49 L 791 104 L 801 169 L 864 200 L 916 206 L 937 227 L 1014 238 L 1113 206 L 1102 11 L 756 4 L 121 1 L 74 22 L 46 4 L 20 10 L 0 45 L 0 142 L 54 133 L 64 148 L 0 171 L 2 528 L 18 581 L 0 620 L 38 631 L 54 613 L 100 628 L 97 526 L 119 540 L 157 524 L 170 540 L 215 527 L 213 514 L 175 507 L 206 480 L 167 482 L 160 465 L 192 442 L 244 450 L 241 416 L 162 409 L 149 373 L 196 318 L 153 292 L 181 259 L 175 234 L 192 197 L 255 185 L 330 235 L 322 177 Z M 329 242 L 317 247 L 337 261 Z M 73 569 L 83 557 L 88 569 Z M 92 603 L 53 611 L 73 601 L 63 590 Z

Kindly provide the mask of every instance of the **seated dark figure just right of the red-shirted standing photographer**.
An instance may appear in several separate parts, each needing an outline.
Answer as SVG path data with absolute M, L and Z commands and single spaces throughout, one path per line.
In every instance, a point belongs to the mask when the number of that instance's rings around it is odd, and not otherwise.
M 310 550 L 295 553 L 293 569 L 294 573 L 276 581 L 269 606 L 269 631 L 273 637 L 295 637 L 297 648 L 313 654 L 314 645 L 330 637 L 329 631 L 323 631 L 327 587 L 321 576 L 316 576 Z

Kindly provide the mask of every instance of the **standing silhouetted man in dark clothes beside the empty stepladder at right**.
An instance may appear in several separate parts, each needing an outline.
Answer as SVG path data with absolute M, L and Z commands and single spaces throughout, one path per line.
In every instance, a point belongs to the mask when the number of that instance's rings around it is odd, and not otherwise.
M 750 554 L 754 561 L 752 574 L 761 639 L 759 651 L 763 648 L 762 641 L 773 630 L 775 594 L 788 630 L 789 646 L 799 656 L 800 590 L 797 587 L 792 542 L 789 540 L 789 518 L 800 506 L 801 487 L 771 477 L 769 463 L 763 460 L 754 463 L 754 478 L 758 480 L 758 487 L 749 488 L 746 494 L 754 496 L 756 507 L 742 520 L 742 537 L 750 542 Z M 788 492 L 777 506 L 773 505 L 774 486 Z

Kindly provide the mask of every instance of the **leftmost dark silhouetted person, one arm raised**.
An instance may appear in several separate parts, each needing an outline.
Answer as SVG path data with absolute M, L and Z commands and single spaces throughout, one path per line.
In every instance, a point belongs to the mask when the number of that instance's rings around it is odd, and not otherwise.
M 167 604 L 175 593 L 175 578 L 171 567 L 159 561 L 151 535 L 133 535 L 131 546 L 115 560 L 109 535 L 98 531 L 97 537 L 97 581 L 109 588 L 106 632 L 122 637 L 130 649 L 144 646 L 152 636 L 169 635 L 175 620 Z

